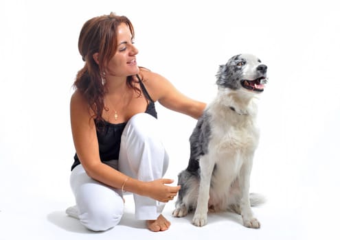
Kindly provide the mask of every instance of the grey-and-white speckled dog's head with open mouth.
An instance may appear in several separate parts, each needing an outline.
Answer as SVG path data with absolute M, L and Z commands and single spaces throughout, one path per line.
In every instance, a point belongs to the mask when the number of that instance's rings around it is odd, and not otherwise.
M 261 93 L 267 83 L 267 66 L 256 56 L 240 54 L 220 65 L 216 77 L 218 88 Z

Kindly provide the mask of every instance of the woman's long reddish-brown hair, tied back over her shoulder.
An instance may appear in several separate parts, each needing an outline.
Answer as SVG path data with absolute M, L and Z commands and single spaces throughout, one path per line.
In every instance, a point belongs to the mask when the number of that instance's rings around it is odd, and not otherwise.
M 84 23 L 80 31 L 78 49 L 85 64 L 78 71 L 73 86 L 87 100 L 96 121 L 104 121 L 102 119 L 102 111 L 105 109 L 104 95 L 106 93 L 106 88 L 103 84 L 104 69 L 117 50 L 117 27 L 121 23 L 128 25 L 134 38 L 135 31 L 131 21 L 126 16 L 117 16 L 113 12 L 109 15 L 89 19 Z M 98 64 L 93 59 L 94 53 L 99 53 Z M 128 86 L 140 93 L 139 88 L 133 86 L 132 76 L 128 76 L 126 82 Z

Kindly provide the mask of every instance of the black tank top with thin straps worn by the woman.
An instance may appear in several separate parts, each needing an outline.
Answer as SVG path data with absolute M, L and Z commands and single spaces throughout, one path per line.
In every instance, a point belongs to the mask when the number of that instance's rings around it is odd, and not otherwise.
M 157 119 L 157 111 L 155 108 L 155 101 L 153 101 L 146 91 L 144 84 L 141 82 L 139 76 L 137 75 L 139 80 L 139 84 L 141 86 L 141 91 L 143 91 L 144 95 L 149 101 L 149 104 L 146 108 L 146 113 L 155 117 Z M 118 160 L 120 155 L 120 139 L 122 138 L 123 130 L 126 126 L 126 123 L 109 123 L 104 121 L 104 123 L 95 123 L 97 126 L 97 138 L 99 144 L 99 156 L 102 162 L 106 162 L 109 160 Z M 75 154 L 74 162 L 71 166 L 71 170 L 74 167 L 80 165 L 80 160 Z

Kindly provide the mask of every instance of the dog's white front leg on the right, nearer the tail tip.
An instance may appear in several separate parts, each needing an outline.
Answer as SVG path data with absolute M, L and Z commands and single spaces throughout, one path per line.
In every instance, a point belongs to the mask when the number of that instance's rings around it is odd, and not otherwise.
M 250 175 L 253 165 L 253 159 L 246 160 L 242 165 L 239 181 L 240 181 L 240 211 L 242 215 L 243 225 L 247 228 L 260 228 L 260 221 L 253 217 L 253 212 L 250 208 L 249 201 L 249 187 L 250 187 Z

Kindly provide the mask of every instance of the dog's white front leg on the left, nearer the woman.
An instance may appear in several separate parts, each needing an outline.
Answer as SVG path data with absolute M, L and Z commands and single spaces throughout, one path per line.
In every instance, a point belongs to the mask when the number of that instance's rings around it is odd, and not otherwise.
M 201 169 L 201 181 L 199 185 L 199 197 L 197 199 L 196 211 L 192 223 L 201 227 L 207 224 L 209 189 L 214 163 L 210 163 L 210 158 L 208 158 L 207 155 L 204 155 L 201 156 L 199 164 Z

